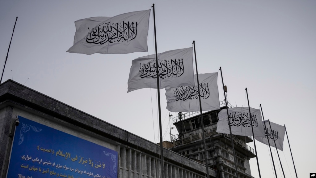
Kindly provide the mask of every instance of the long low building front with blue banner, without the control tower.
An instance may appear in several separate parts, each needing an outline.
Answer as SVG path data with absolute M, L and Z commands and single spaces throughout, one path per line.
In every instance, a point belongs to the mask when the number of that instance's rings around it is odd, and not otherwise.
M 99 148 L 106 151 L 94 156 Z M 112 162 L 118 178 L 206 177 L 200 162 L 170 149 L 163 149 L 163 154 L 161 176 L 156 143 L 13 80 L 0 85 L 0 177 L 109 178 L 105 159 Z M 209 174 L 217 177 L 213 168 Z

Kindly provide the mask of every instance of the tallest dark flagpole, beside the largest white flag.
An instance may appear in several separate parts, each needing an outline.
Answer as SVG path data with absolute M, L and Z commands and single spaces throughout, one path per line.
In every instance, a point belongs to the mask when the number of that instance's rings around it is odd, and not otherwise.
M 157 54 L 157 38 L 156 38 L 156 20 L 155 20 L 155 4 L 151 6 L 154 15 L 154 34 L 155 34 L 155 51 L 156 51 L 156 72 L 157 72 L 157 97 L 158 97 L 158 112 L 159 112 L 159 132 L 160 132 L 160 171 L 161 178 L 165 177 L 163 164 L 163 147 L 162 147 L 162 129 L 161 129 L 161 108 L 160 108 L 160 86 L 159 86 L 159 70 L 158 70 L 158 54 Z

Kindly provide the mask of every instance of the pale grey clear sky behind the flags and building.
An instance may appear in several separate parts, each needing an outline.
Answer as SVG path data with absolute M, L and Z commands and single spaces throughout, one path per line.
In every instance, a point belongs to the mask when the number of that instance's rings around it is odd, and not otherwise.
M 315 0 L 0 0 L 2 82 L 13 79 L 33 90 L 159 143 L 157 90 L 127 93 L 131 61 L 154 54 L 151 11 L 148 52 L 73 54 L 79 19 L 151 9 L 155 3 L 158 53 L 192 47 L 198 73 L 220 72 L 228 102 L 259 109 L 264 119 L 286 125 L 298 177 L 316 172 Z M 221 77 L 220 101 L 224 100 Z M 160 90 L 163 140 L 170 140 L 165 90 Z M 171 131 L 176 134 L 175 130 Z M 253 142 L 249 146 L 254 148 Z M 261 177 L 275 177 L 270 150 L 256 142 Z M 272 150 L 275 162 L 276 150 Z M 296 177 L 288 140 L 279 151 L 286 177 Z M 251 173 L 259 177 L 256 158 Z M 283 177 L 280 163 L 277 176 Z

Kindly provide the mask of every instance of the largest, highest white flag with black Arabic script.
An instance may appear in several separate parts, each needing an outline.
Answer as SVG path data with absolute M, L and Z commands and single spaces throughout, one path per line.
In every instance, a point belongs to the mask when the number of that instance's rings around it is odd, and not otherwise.
M 127 54 L 148 51 L 147 37 L 150 10 L 129 12 L 114 17 L 78 20 L 74 45 L 69 53 Z M 104 18 L 104 21 L 101 21 Z M 88 22 L 88 24 L 82 24 Z M 78 32 L 79 25 L 82 33 Z M 96 25 L 95 25 L 96 24 Z M 84 29 L 86 28 L 86 29 Z M 78 33 L 77 33 L 78 32 Z M 80 34 L 80 35 L 78 35 Z M 76 37 L 77 35 L 77 37 Z M 79 38 L 80 37 L 80 38 Z

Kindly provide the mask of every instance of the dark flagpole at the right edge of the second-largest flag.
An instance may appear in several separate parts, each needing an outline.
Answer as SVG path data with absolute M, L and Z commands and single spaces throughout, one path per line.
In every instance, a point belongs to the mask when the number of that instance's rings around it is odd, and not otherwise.
M 193 47 L 194 47 L 194 57 L 195 57 L 195 67 L 197 71 L 197 54 L 195 52 L 195 41 L 193 41 Z M 204 153 L 205 153 L 205 164 L 206 164 L 206 177 L 210 178 L 209 174 L 209 162 L 207 160 L 207 152 L 206 152 L 206 143 L 205 143 L 205 133 L 204 133 L 204 122 L 203 122 L 203 113 L 202 113 L 202 104 L 201 104 L 201 95 L 200 95 L 200 83 L 198 81 L 198 72 L 197 72 L 197 90 L 198 93 L 198 99 L 200 101 L 200 112 L 201 112 L 201 125 L 202 125 L 202 137 L 203 137 L 203 145 L 204 145 Z

